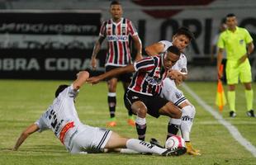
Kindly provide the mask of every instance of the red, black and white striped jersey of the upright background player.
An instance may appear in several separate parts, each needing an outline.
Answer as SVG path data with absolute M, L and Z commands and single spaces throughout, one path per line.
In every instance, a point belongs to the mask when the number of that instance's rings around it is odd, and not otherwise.
M 105 66 L 131 64 L 129 36 L 138 35 L 138 33 L 130 20 L 121 18 L 118 23 L 112 19 L 104 21 L 99 35 L 107 38 L 108 51 Z

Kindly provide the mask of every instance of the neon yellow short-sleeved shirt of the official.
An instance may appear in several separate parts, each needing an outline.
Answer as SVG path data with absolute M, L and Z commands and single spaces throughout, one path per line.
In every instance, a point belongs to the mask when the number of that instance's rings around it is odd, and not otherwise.
M 236 26 L 235 32 L 225 30 L 220 34 L 217 46 L 225 49 L 228 60 L 237 61 L 246 54 L 246 45 L 252 41 L 246 29 Z

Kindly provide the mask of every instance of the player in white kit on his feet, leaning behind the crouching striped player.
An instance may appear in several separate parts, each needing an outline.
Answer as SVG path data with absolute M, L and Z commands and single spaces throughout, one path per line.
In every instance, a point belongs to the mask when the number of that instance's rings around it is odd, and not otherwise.
M 173 35 L 173 42 L 168 40 L 161 40 L 158 43 L 149 45 L 145 48 L 145 51 L 149 55 L 155 55 L 164 53 L 169 46 L 177 46 L 179 50 L 184 50 L 193 38 L 193 34 L 187 28 L 179 28 Z M 180 91 L 176 84 L 180 84 L 187 78 L 187 58 L 184 54 L 181 54 L 180 59 L 170 69 L 170 73 L 173 74 L 172 78 L 165 78 L 161 97 L 164 97 L 168 101 L 172 101 L 175 106 L 181 108 L 181 119 L 170 118 L 168 122 L 168 137 L 178 133 L 180 127 L 183 139 L 186 141 L 187 153 L 192 155 L 201 155 L 199 150 L 192 148 L 190 140 L 190 131 L 192 129 L 192 120 L 196 114 L 195 107 L 184 97 L 183 92 Z

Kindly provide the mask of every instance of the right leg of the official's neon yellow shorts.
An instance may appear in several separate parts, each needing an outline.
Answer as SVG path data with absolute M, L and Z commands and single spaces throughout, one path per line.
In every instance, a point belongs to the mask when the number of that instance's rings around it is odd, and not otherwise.
M 249 64 L 249 59 L 244 61 L 244 64 L 239 68 L 240 82 L 252 82 L 252 72 L 251 65 Z

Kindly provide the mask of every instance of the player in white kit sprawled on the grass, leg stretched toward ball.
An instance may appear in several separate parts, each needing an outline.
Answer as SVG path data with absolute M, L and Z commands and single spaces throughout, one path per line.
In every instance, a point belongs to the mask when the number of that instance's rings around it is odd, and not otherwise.
M 89 77 L 86 71 L 79 72 L 77 79 L 69 85 L 60 85 L 55 92 L 55 100 L 34 124 L 26 128 L 17 139 L 13 150 L 17 150 L 28 136 L 36 131 L 52 130 L 70 153 L 95 153 L 106 149 L 129 148 L 139 153 L 178 156 L 186 153 L 186 148 L 174 150 L 159 148 L 139 139 L 127 139 L 111 130 L 83 125 L 78 119 L 74 99 L 78 89 Z M 122 150 L 121 150 L 122 151 Z

